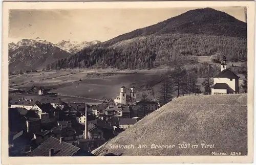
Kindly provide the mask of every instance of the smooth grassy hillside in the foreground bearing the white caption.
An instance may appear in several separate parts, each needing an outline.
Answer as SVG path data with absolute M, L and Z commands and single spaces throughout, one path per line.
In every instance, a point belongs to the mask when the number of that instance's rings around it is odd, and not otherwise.
M 178 144 L 197 144 L 179 149 Z M 202 149 L 201 143 L 215 144 Z M 147 145 L 147 149 L 109 149 L 115 145 Z M 176 145 L 151 149 L 151 145 Z M 144 117 L 109 143 L 93 151 L 97 155 L 211 155 L 211 152 L 247 154 L 247 95 L 190 96 L 178 98 Z

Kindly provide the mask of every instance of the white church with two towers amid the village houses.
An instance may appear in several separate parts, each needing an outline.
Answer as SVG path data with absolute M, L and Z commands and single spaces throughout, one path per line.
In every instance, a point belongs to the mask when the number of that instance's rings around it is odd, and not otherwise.
M 136 91 L 135 87 L 130 88 L 130 93 L 126 93 L 125 86 L 121 86 L 119 96 L 115 98 L 114 102 L 116 104 L 127 105 L 129 103 L 136 102 Z

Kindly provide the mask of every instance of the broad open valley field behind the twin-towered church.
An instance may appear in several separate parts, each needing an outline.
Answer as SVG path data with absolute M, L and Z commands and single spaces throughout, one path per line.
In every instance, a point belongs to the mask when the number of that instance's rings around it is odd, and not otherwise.
M 9 87 L 30 89 L 32 86 L 41 86 L 51 89 L 63 95 L 86 97 L 102 100 L 114 98 L 119 95 L 120 87 L 135 86 L 138 98 L 142 92 L 156 98 L 159 91 L 161 75 L 166 73 L 166 68 L 151 70 L 114 70 L 114 69 L 84 69 L 84 70 L 61 70 L 59 72 L 29 73 L 9 77 Z M 243 78 L 243 75 L 239 75 Z M 197 85 L 204 90 L 199 78 Z M 243 80 L 240 80 L 240 84 Z M 153 86 L 153 91 L 146 88 L 147 84 Z M 154 96 L 153 96 L 154 92 Z M 67 99 L 65 97 L 65 99 Z M 69 98 L 68 100 L 82 100 Z

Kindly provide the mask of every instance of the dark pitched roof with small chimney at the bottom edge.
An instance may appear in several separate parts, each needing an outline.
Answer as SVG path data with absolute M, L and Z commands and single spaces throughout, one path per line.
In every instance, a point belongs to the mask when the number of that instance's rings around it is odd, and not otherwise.
M 32 150 L 28 156 L 93 156 L 93 154 L 63 142 L 62 138 L 49 137 L 44 143 Z

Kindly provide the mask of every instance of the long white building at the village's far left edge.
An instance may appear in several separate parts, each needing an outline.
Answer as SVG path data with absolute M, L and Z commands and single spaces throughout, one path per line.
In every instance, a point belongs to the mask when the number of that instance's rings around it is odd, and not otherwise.
M 11 108 L 26 108 L 30 110 L 35 104 L 39 104 L 40 102 L 32 100 L 32 99 L 19 99 L 18 101 L 12 101 Z

